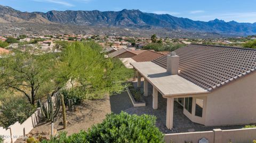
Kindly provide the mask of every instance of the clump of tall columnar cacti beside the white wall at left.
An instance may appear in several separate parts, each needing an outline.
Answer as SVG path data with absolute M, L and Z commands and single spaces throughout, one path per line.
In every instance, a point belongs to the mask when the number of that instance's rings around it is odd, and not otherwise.
M 56 99 L 55 110 L 54 110 L 54 103 L 50 95 L 47 95 L 47 102 L 45 104 L 42 104 L 40 99 L 38 100 L 38 106 L 41 108 L 41 115 L 44 117 L 46 121 L 54 122 L 55 117 L 59 113 L 60 104 L 61 104 L 59 94 L 56 95 L 55 99 Z

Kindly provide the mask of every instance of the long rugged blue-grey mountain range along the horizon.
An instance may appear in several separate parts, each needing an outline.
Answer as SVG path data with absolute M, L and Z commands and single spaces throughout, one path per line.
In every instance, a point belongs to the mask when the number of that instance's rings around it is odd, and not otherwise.
M 80 26 L 118 27 L 131 29 L 183 30 L 210 32 L 221 35 L 247 36 L 256 34 L 255 23 L 212 20 L 209 22 L 178 18 L 169 14 L 145 13 L 139 10 L 122 11 L 49 11 L 21 12 L 0 5 L 0 23 L 42 23 Z

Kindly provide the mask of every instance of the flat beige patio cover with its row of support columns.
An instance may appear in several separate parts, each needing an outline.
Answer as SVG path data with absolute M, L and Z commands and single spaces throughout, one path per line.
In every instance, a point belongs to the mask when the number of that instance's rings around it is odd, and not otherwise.
M 207 90 L 180 77 L 178 75 L 178 68 L 177 71 L 170 69 L 169 72 L 168 68 L 166 71 L 166 69 L 153 62 L 131 63 L 131 65 L 138 74 L 138 87 L 141 87 L 141 77 L 144 78 L 143 91 L 146 97 L 149 95 L 149 83 L 152 85 L 153 98 L 151 98 L 153 109 L 157 110 L 159 107 L 165 106 L 165 116 L 162 116 L 161 120 L 165 119 L 167 129 L 173 128 L 174 98 L 178 98 L 179 96 L 189 97 L 192 94 L 207 92 Z M 158 99 L 162 98 L 165 98 L 165 104 L 160 104 L 160 100 L 158 101 Z M 183 114 L 183 110 L 180 113 Z

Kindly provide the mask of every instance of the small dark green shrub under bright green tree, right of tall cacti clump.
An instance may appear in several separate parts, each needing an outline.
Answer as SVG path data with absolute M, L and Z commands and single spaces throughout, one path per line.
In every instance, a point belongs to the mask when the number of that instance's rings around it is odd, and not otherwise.
M 64 96 L 65 105 L 68 105 L 69 99 L 73 101 L 74 105 L 78 105 L 83 102 L 83 95 L 77 89 L 62 89 L 60 92 Z

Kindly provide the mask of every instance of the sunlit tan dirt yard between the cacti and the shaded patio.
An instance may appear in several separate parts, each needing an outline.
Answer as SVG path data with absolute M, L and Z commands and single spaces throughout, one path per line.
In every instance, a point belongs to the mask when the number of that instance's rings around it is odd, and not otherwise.
M 54 122 L 54 129 L 57 129 L 57 132 L 67 131 L 68 135 L 77 133 L 81 130 L 89 129 L 93 124 L 101 123 L 108 113 L 111 113 L 109 96 L 99 100 L 87 100 L 81 105 L 77 105 L 76 111 L 67 111 L 68 124 L 66 129 L 63 129 L 60 110 L 57 121 Z M 49 132 L 51 132 L 51 123 L 41 123 L 27 136 L 50 138 Z M 25 142 L 25 140 L 20 139 L 15 142 Z

